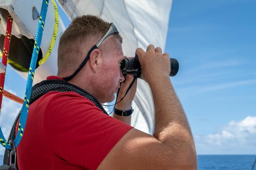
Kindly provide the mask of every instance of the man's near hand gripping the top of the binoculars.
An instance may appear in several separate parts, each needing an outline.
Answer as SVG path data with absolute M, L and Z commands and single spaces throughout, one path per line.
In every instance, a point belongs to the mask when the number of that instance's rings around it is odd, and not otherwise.
M 148 83 L 159 76 L 168 76 L 170 74 L 170 57 L 168 53 L 162 54 L 160 47 L 148 45 L 145 52 L 142 48 L 137 48 L 136 55 L 139 58 L 142 68 L 142 77 Z

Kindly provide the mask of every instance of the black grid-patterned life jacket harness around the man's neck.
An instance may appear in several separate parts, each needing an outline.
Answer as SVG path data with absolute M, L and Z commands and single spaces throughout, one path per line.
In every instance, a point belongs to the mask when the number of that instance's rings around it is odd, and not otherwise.
M 83 96 L 87 98 L 88 100 L 92 101 L 98 107 L 104 114 L 108 115 L 108 112 L 101 106 L 100 102 L 92 96 L 90 93 L 85 91 L 84 89 L 81 89 L 80 87 L 77 87 L 76 85 L 70 84 L 67 81 L 64 80 L 44 80 L 40 83 L 37 83 L 31 91 L 31 98 L 29 105 L 34 103 L 37 99 L 39 99 L 41 96 L 45 95 L 46 93 L 49 93 L 51 91 L 58 91 L 58 92 L 75 92 L 80 96 Z M 14 140 L 16 134 L 16 125 L 20 118 L 20 112 L 18 116 L 15 119 L 15 122 L 12 125 L 12 129 L 8 138 L 8 141 Z M 4 164 L 8 164 L 8 159 L 10 158 L 10 153 L 12 150 L 5 149 L 4 152 Z M 1 168 L 0 168 L 1 169 Z

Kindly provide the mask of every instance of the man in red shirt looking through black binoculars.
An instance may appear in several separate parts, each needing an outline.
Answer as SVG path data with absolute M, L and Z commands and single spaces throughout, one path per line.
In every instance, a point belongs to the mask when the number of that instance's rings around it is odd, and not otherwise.
M 60 38 L 58 75 L 33 88 L 17 147 L 21 170 L 197 168 L 190 127 L 169 78 L 169 55 L 161 48 L 136 50 L 154 99 L 154 135 L 128 125 L 131 116 L 105 114 L 99 103 L 111 102 L 125 80 L 121 43 L 116 27 L 98 17 L 72 21 Z M 117 101 L 132 80 L 128 74 Z M 131 109 L 136 85 L 116 104 L 117 110 Z

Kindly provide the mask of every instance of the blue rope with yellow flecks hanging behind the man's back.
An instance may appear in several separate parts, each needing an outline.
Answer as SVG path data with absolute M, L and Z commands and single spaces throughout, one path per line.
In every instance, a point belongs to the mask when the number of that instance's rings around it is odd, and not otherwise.
M 41 40 L 42 40 L 42 36 L 43 36 L 44 22 L 45 22 L 45 18 L 46 18 L 48 4 L 49 4 L 49 0 L 43 0 L 42 7 L 41 7 L 41 13 L 40 13 L 40 17 L 39 17 L 39 23 L 38 23 L 38 27 L 37 27 L 37 31 L 36 31 L 36 39 L 35 39 L 34 49 L 33 49 L 32 58 L 31 58 L 29 71 L 28 71 L 28 80 L 27 80 L 25 98 L 24 98 L 24 102 L 23 102 L 23 105 L 21 108 L 21 113 L 20 113 L 19 129 L 18 129 L 17 135 L 14 139 L 14 144 L 16 147 L 20 144 L 20 140 L 23 136 L 27 117 L 28 117 L 29 99 L 30 99 L 30 95 L 31 95 L 32 83 L 33 83 L 34 73 L 35 73 L 35 69 L 36 69 L 37 56 L 38 56 L 38 53 L 40 50 Z M 0 142 L 0 143 L 5 148 L 11 149 L 11 145 L 9 142 L 7 142 L 5 140 L 1 128 L 0 128 L 0 138 L 4 139 L 6 145 L 3 145 L 2 144 L 3 142 Z

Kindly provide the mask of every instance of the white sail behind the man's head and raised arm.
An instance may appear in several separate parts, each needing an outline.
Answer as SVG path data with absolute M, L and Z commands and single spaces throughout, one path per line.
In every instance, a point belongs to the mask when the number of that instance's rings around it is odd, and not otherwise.
M 146 50 L 149 44 L 159 46 L 164 51 L 172 1 L 58 0 L 58 2 L 71 20 L 76 16 L 92 14 L 113 22 L 123 37 L 123 52 L 126 56 L 134 56 L 138 47 Z M 138 80 L 132 108 L 135 110 L 133 117 L 142 114 L 145 118 L 148 131 L 142 130 L 152 133 L 154 105 L 148 84 L 143 80 Z M 142 119 L 133 119 L 132 125 L 137 126 L 136 122 L 144 124 Z

